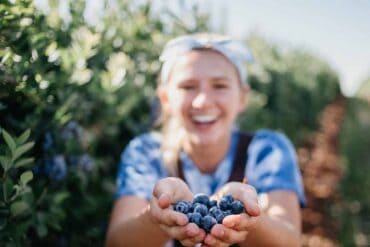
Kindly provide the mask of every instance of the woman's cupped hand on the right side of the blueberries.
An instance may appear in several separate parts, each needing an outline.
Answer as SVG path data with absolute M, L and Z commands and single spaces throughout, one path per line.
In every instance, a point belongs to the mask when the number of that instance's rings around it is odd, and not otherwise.
M 231 194 L 235 200 L 241 201 L 246 212 L 229 215 L 224 218 L 222 224 L 216 224 L 204 239 L 204 244 L 207 246 L 230 246 L 243 242 L 249 231 L 256 226 L 260 208 L 254 187 L 243 183 L 230 182 L 223 186 L 213 197 L 219 200 L 226 194 Z

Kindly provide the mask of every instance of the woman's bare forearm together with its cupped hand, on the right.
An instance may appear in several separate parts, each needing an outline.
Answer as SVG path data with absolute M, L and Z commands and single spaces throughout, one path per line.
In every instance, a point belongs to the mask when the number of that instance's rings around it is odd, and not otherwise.
M 251 210 L 257 201 L 253 187 L 232 182 L 224 187 L 224 193 L 243 201 L 248 214 L 230 215 L 222 224 L 216 224 L 205 238 L 207 246 L 235 243 L 254 247 L 300 246 L 300 209 L 295 193 L 286 190 L 267 193 L 260 203 L 260 213 Z

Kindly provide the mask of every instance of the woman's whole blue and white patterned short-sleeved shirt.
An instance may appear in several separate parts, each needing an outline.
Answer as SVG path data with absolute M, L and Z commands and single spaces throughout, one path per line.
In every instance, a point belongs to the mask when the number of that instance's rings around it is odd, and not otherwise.
M 238 138 L 238 132 L 234 130 L 229 150 L 213 174 L 202 173 L 184 151 L 180 152 L 184 177 L 194 194 L 212 195 L 228 181 Z M 121 155 L 116 197 L 136 195 L 149 200 L 156 182 L 169 176 L 162 162 L 160 142 L 160 134 L 150 132 L 134 138 L 128 144 Z M 293 145 L 283 134 L 259 130 L 254 134 L 247 152 L 244 177 L 258 194 L 289 190 L 296 193 L 301 205 L 305 204 L 296 154 Z

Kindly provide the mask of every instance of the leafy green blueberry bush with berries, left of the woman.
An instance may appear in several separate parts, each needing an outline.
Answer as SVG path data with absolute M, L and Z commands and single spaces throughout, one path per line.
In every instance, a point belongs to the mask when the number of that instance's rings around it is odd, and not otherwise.
M 0 245 L 101 246 L 120 152 L 153 121 L 160 47 L 206 18 L 110 1 L 88 20 L 83 0 L 40 2 L 0 3 Z

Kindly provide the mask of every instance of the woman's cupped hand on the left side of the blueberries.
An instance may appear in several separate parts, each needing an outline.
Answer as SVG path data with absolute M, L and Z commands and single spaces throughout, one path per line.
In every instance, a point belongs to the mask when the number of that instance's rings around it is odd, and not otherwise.
M 179 200 L 192 201 L 193 194 L 179 178 L 168 177 L 157 182 L 150 201 L 150 216 L 154 223 L 171 239 L 177 239 L 184 246 L 194 246 L 205 238 L 204 230 L 189 223 L 186 215 L 176 212 L 172 204 Z

